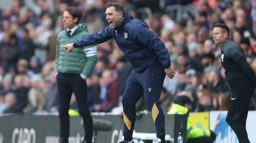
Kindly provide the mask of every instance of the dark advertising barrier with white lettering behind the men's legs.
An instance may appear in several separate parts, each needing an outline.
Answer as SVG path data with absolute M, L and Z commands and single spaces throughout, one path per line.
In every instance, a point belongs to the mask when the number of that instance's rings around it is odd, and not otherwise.
M 166 115 L 166 134 L 177 143 L 178 133 L 182 132 L 186 140 L 186 116 Z M 120 116 L 93 116 L 113 123 L 112 131 L 98 132 L 97 143 L 116 143 L 122 136 L 123 119 Z M 135 123 L 137 133 L 155 133 L 154 121 L 150 114 L 143 115 Z M 58 143 L 58 116 L 14 115 L 0 117 L 1 143 Z M 69 143 L 80 143 L 84 136 L 79 116 L 70 117 Z

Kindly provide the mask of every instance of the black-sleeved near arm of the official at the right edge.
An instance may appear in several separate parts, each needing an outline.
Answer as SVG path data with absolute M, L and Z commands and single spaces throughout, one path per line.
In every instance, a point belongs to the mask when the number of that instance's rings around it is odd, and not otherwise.
M 235 47 L 230 47 L 230 49 L 228 49 L 227 53 L 225 54 L 228 55 L 228 57 L 232 58 L 246 73 L 246 75 L 252 80 L 252 82 L 256 84 L 255 72 L 248 63 L 242 49 L 238 45 L 236 45 Z

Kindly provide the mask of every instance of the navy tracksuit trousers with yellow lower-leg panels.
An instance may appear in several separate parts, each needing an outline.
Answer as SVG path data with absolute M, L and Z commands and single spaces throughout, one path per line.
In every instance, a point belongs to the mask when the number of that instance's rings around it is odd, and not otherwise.
M 152 112 L 156 127 L 156 135 L 162 139 L 165 136 L 164 112 L 158 104 L 166 73 L 160 63 L 154 63 L 142 73 L 135 70 L 126 81 L 126 88 L 122 97 L 124 110 L 123 135 L 126 141 L 132 140 L 134 123 L 136 120 L 136 103 L 144 94 L 145 102 Z

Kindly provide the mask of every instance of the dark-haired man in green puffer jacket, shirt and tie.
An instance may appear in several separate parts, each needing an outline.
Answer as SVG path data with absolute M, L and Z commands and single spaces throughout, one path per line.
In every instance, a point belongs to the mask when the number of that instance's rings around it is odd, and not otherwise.
M 78 24 L 81 17 L 82 12 L 76 8 L 67 8 L 63 14 L 63 24 L 66 29 L 57 36 L 55 76 L 59 93 L 60 143 L 68 143 L 70 127 L 68 111 L 73 92 L 76 96 L 78 112 L 85 123 L 82 143 L 92 143 L 92 116 L 87 100 L 86 78 L 90 76 L 98 61 L 97 46 L 77 48 L 72 53 L 66 53 L 64 48 L 59 47 L 88 35 L 86 24 Z

